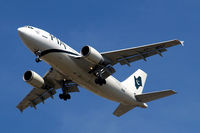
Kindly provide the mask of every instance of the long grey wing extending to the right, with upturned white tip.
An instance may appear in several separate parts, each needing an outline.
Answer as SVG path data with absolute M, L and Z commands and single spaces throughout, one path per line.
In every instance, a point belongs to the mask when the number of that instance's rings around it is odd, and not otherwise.
M 144 45 L 139 47 L 133 47 L 128 49 L 121 49 L 116 51 L 109 51 L 101 53 L 103 57 L 111 60 L 111 65 L 120 63 L 121 65 L 130 65 L 129 63 L 137 60 L 145 60 L 147 57 L 159 54 L 162 56 L 162 53 L 167 51 L 166 48 L 172 47 L 178 44 L 183 45 L 183 41 L 171 40 L 165 42 L 159 42 L 150 45 Z

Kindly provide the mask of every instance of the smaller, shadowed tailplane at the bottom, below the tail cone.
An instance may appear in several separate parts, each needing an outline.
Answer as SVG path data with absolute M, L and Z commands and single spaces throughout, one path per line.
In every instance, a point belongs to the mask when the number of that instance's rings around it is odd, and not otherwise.
M 120 103 L 120 105 L 117 107 L 115 112 L 113 113 L 115 116 L 120 117 L 121 115 L 127 113 L 131 109 L 135 108 L 136 106 L 133 105 L 123 105 Z

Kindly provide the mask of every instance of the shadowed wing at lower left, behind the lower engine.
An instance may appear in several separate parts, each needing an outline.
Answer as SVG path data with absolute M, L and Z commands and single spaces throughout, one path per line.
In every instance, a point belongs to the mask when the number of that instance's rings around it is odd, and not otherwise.
M 34 107 L 36 108 L 36 105 L 39 103 L 44 103 L 46 99 L 49 97 L 53 98 L 53 95 L 56 94 L 56 89 L 62 87 L 62 81 L 67 78 L 57 72 L 54 69 L 50 69 L 45 75 L 44 75 L 45 83 L 50 86 L 48 89 L 42 89 L 42 88 L 33 88 L 26 97 L 17 105 L 17 108 L 22 112 L 27 107 Z M 68 82 L 69 83 L 69 82 Z M 79 89 L 77 87 L 77 84 L 70 82 L 74 85 L 68 87 L 68 92 L 79 92 Z

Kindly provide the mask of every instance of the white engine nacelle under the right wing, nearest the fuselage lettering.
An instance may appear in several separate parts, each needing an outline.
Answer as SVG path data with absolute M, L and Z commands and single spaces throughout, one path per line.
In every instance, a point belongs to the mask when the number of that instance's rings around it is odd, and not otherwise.
M 84 46 L 81 49 L 81 54 L 85 57 L 90 63 L 97 65 L 104 62 L 103 56 L 94 48 L 90 46 Z

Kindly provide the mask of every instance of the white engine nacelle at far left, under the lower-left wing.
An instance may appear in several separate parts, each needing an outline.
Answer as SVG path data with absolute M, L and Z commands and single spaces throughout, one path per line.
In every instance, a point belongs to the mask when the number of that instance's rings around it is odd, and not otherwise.
M 44 79 L 34 71 L 26 71 L 23 80 L 35 88 L 44 88 Z

